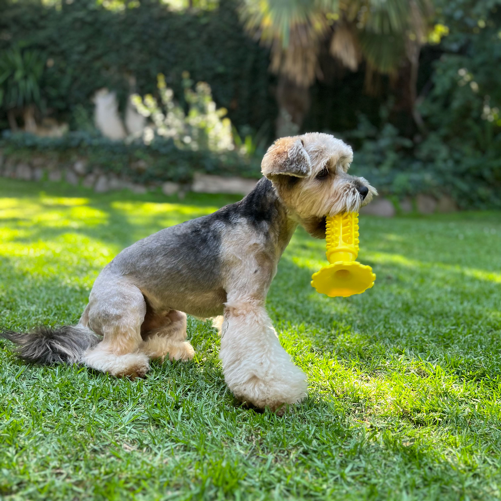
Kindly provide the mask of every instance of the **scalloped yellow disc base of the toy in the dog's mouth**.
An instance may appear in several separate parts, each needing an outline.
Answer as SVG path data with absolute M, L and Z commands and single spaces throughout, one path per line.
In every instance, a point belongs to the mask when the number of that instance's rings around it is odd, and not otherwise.
M 338 262 L 325 266 L 312 276 L 312 287 L 321 294 L 334 298 L 347 298 L 353 294 L 361 294 L 374 285 L 376 275 L 370 266 L 361 265 L 357 261 Z

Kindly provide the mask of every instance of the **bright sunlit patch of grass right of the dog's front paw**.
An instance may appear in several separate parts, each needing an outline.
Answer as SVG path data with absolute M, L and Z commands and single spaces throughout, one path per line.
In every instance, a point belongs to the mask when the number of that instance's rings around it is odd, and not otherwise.
M 308 374 L 313 393 L 345 401 L 352 406 L 352 419 L 367 427 L 396 418 L 407 420 L 411 426 L 455 427 L 471 419 L 471 411 L 459 409 L 482 390 L 486 395 L 482 405 L 476 405 L 475 417 L 501 415 L 501 381 L 493 381 L 486 389 L 482 381 L 465 380 L 440 364 L 406 354 L 379 360 L 367 371 L 360 367 L 357 349 L 352 349 L 351 358 L 340 358 L 331 352 L 319 352 L 310 340 L 304 339 L 301 345 L 292 343 L 287 334 L 283 333 L 281 340 Z M 346 333 L 343 336 L 346 338 Z M 359 350 L 364 349 L 363 338 L 357 334 L 348 337 L 354 346 L 360 345 Z M 448 414 L 454 408 L 457 419 L 453 422 Z

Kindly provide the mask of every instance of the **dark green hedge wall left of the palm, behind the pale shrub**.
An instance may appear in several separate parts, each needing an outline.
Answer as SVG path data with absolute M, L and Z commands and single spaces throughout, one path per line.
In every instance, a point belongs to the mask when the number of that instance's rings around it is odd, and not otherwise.
M 79 105 L 92 114 L 97 89 L 116 91 L 124 109 L 131 90 L 155 92 L 158 73 L 182 103 L 181 75 L 189 71 L 195 82 L 210 84 L 232 123 L 256 130 L 268 123 L 273 131 L 277 107 L 269 89 L 274 77 L 268 51 L 243 32 L 234 0 L 221 0 L 215 10 L 181 12 L 155 0 L 52 6 L 0 0 L 0 12 L 0 52 L 22 42 L 47 55 L 42 97 L 72 128 L 81 115 Z M 7 126 L 5 115 L 2 126 Z

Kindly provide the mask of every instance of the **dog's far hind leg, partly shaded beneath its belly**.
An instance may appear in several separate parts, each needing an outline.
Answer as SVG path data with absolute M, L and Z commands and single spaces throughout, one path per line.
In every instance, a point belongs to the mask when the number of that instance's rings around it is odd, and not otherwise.
M 153 313 L 148 309 L 141 326 L 144 339 L 142 352 L 162 361 L 191 360 L 195 351 L 186 341 L 186 314 L 177 310 Z

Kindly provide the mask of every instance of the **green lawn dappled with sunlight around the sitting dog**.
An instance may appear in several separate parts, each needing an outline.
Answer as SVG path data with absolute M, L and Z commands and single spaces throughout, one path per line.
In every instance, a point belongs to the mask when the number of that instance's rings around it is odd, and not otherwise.
M 78 321 L 124 246 L 231 197 L 90 191 L 2 179 L 0 326 Z M 119 380 L 26 365 L 0 341 L 0 498 L 494 499 L 501 484 L 501 217 L 361 217 L 373 289 L 310 287 L 324 242 L 299 229 L 268 309 L 308 374 L 284 417 L 226 389 L 209 322 L 191 363 Z

